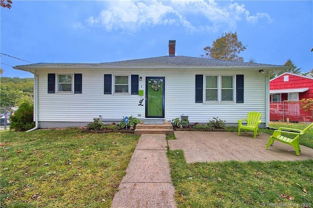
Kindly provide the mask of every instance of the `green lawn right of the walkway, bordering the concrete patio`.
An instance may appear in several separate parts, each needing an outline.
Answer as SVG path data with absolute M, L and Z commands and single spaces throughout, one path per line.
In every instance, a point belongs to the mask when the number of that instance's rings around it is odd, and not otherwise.
M 269 126 L 303 129 L 307 124 Z M 313 148 L 312 128 L 300 138 L 300 144 Z M 167 155 L 179 208 L 313 207 L 313 160 L 187 164 L 182 150 Z

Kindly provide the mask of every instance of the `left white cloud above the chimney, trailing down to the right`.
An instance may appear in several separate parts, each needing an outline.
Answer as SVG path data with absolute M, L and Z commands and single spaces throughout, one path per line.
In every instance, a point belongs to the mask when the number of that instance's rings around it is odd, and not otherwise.
M 186 21 L 171 6 L 162 1 L 116 1 L 108 10 L 100 12 L 98 17 L 89 17 L 90 24 L 100 24 L 107 31 L 122 29 L 135 31 L 142 26 L 183 25 L 190 28 Z

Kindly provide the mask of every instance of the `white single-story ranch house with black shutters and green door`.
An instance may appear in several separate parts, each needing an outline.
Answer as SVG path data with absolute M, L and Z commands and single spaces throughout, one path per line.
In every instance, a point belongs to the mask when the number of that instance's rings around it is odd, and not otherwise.
M 249 111 L 269 121 L 269 75 L 285 66 L 169 55 L 105 63 L 35 63 L 14 69 L 34 74 L 36 128 L 85 126 L 93 118 L 124 116 L 190 123 L 213 117 L 238 125 Z

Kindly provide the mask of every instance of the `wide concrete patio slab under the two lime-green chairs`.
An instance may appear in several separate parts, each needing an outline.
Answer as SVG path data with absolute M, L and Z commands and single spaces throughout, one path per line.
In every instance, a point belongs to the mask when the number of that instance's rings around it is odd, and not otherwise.
M 300 146 L 297 156 L 292 146 L 275 141 L 265 149 L 269 135 L 253 139 L 253 132 L 175 131 L 176 140 L 169 140 L 170 150 L 182 149 L 187 163 L 218 161 L 295 161 L 313 159 L 313 149 Z M 301 139 L 301 138 L 300 138 Z

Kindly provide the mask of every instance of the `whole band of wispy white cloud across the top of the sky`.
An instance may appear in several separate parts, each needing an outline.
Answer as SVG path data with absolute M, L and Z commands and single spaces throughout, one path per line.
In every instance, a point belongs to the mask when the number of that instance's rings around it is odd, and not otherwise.
M 106 31 L 135 32 L 143 27 L 180 25 L 187 32 L 216 32 L 221 27 L 236 29 L 239 21 L 256 24 L 261 19 L 272 21 L 267 13 L 250 15 L 244 4 L 214 0 L 173 1 L 108 1 L 106 9 L 87 22 L 103 27 Z M 227 5 L 226 5 L 227 4 Z M 79 22 L 80 23 L 80 22 Z M 84 25 L 77 23 L 76 28 Z

